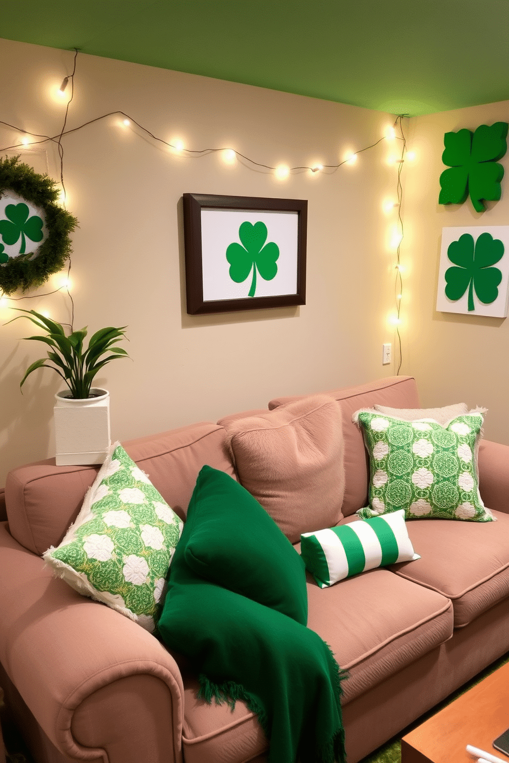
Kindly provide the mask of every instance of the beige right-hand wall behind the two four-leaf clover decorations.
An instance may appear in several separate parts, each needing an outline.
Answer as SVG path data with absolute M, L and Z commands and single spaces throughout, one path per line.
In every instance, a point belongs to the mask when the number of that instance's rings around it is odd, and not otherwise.
M 466 401 L 488 408 L 485 436 L 509 443 L 509 323 L 504 318 L 437 312 L 443 227 L 509 224 L 509 155 L 502 197 L 476 212 L 464 204 L 438 204 L 446 132 L 508 121 L 509 101 L 411 119 L 409 147 L 416 159 L 405 185 L 402 262 L 408 265 L 404 298 L 402 372 L 417 378 L 425 405 Z

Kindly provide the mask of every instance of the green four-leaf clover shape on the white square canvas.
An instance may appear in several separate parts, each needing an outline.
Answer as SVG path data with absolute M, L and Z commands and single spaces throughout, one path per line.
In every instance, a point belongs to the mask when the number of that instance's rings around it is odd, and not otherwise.
M 479 301 L 491 304 L 498 297 L 498 285 L 502 280 L 501 271 L 492 268 L 504 256 L 504 244 L 493 239 L 490 233 L 481 233 L 475 242 L 470 233 L 463 233 L 458 241 L 453 241 L 447 256 L 458 267 L 446 270 L 446 297 L 456 301 L 467 288 L 469 290 L 469 311 L 475 310 L 474 289 Z

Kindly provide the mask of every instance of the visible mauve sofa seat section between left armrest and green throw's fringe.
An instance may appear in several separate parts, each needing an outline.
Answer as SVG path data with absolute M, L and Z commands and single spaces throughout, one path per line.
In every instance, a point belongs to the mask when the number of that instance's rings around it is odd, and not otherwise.
M 184 722 L 182 747 L 185 763 L 244 763 L 269 749 L 255 713 L 237 700 L 234 710 L 197 698 L 200 684 L 183 675 Z

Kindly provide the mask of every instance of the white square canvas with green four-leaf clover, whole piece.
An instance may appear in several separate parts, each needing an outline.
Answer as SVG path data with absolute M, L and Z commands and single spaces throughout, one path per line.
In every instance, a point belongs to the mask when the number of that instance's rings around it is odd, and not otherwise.
M 437 310 L 507 316 L 509 226 L 442 229 Z

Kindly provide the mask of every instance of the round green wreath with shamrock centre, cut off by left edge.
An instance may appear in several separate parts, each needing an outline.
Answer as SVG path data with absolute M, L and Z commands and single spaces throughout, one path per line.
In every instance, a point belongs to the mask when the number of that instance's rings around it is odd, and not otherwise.
M 63 269 L 71 253 L 70 233 L 78 221 L 56 202 L 56 182 L 47 175 L 37 175 L 31 166 L 20 164 L 19 156 L 0 159 L 0 199 L 12 191 L 44 212 L 47 237 L 43 240 L 40 217 L 30 214 L 26 204 L 7 204 L 5 217 L 0 220 L 0 288 L 5 294 L 18 289 L 27 291 L 42 285 Z M 2 204 L 0 204 L 0 213 Z M 42 241 L 34 252 L 25 252 L 26 238 Z M 5 252 L 5 244 L 20 243 L 14 257 Z M 32 259 L 31 259 L 32 258 Z

